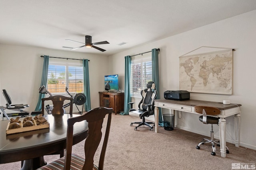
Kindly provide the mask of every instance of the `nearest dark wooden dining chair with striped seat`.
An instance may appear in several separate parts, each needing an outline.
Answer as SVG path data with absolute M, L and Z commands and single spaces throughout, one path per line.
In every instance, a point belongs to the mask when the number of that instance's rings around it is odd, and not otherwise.
M 69 118 L 65 157 L 50 162 L 49 164 L 42 166 L 41 168 L 38 168 L 38 170 L 103 170 L 106 147 L 108 143 L 108 136 L 110 132 L 112 111 L 112 108 L 98 107 L 77 117 Z M 107 120 L 104 119 L 106 115 L 108 115 Z M 88 136 L 84 144 L 85 158 L 83 158 L 77 154 L 72 154 L 72 142 L 74 124 L 76 122 L 85 120 L 88 122 Z M 99 164 L 98 166 L 96 166 L 93 164 L 94 154 L 102 138 L 101 130 L 103 121 L 107 121 L 106 131 L 104 135 L 104 141 L 102 144 L 102 150 L 100 153 Z

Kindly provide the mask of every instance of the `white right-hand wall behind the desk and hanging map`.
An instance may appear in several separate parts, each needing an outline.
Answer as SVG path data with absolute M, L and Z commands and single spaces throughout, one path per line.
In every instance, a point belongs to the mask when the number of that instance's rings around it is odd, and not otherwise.
M 112 73 L 124 76 L 124 56 L 135 55 L 160 48 L 160 94 L 163 98 L 164 91 L 179 89 L 179 56 L 184 55 L 201 46 L 234 48 L 233 52 L 233 93 L 232 95 L 199 94 L 191 93 L 194 100 L 208 100 L 222 102 L 230 100 L 231 103 L 242 104 L 241 111 L 241 145 L 256 150 L 256 10 L 228 18 L 210 25 L 187 31 L 159 41 L 154 41 L 129 49 L 122 53 L 109 56 L 109 68 Z M 158 31 L 158 30 L 156 30 Z M 136 39 L 134 39 L 136 41 Z M 124 78 L 122 78 L 122 89 Z M 164 113 L 169 112 L 163 110 Z M 182 129 L 209 136 L 210 125 L 203 125 L 198 120 L 198 115 L 182 112 L 176 124 Z M 227 141 L 234 143 L 234 117 L 227 120 Z M 218 127 L 214 128 L 218 137 Z

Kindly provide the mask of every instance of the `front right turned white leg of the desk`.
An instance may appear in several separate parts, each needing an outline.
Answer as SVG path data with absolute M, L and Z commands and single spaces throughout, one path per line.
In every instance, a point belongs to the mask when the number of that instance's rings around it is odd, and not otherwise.
M 226 120 L 221 117 L 219 119 L 219 131 L 220 131 L 220 155 L 226 157 Z

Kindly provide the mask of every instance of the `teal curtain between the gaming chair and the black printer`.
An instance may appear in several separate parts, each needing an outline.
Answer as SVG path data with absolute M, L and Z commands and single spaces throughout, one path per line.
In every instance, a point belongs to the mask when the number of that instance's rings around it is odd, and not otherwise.
M 160 88 L 159 88 L 159 65 L 158 65 L 158 49 L 152 49 L 152 80 L 156 84 L 157 96 L 156 99 L 160 99 Z M 159 109 L 159 123 L 162 125 L 162 113 Z

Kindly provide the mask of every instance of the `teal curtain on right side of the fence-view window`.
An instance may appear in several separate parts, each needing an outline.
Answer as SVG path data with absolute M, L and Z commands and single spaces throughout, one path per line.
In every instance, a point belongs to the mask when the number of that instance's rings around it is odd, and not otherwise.
M 91 109 L 91 96 L 90 96 L 90 81 L 89 81 L 89 66 L 88 59 L 83 59 L 84 67 L 84 95 L 86 96 L 86 102 L 84 104 L 85 111 Z

